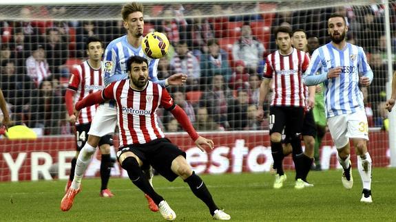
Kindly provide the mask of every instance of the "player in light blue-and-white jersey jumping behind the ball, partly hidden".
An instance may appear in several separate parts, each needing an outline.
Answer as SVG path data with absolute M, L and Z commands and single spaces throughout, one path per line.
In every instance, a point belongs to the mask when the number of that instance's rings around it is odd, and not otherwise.
M 105 49 L 102 67 L 102 76 L 105 85 L 128 78 L 126 61 L 130 56 L 145 56 L 141 47 L 145 25 L 143 19 L 143 5 L 136 2 L 127 3 L 123 6 L 121 14 L 123 16 L 123 25 L 127 30 L 127 34 L 114 39 L 114 41 L 109 43 Z M 158 82 L 162 87 L 166 87 L 167 85 L 183 85 L 186 81 L 187 76 L 184 74 L 174 74 L 166 80 L 158 80 L 158 59 L 147 59 L 149 60 L 149 80 Z M 83 174 L 87 169 L 88 164 L 90 164 L 90 160 L 96 150 L 96 146 L 98 146 L 101 137 L 114 133 L 116 123 L 116 108 L 114 101 L 108 101 L 99 105 L 95 118 L 92 121 L 90 131 L 88 132 L 88 140 L 85 143 L 85 146 L 81 149 L 79 157 L 77 158 L 72 185 L 61 201 L 61 210 L 66 211 L 72 207 L 74 196 L 80 190 L 81 179 L 83 178 Z M 146 172 L 147 177 L 150 178 L 150 184 L 152 184 L 152 171 L 150 168 L 147 168 Z M 145 195 L 145 197 L 149 202 L 150 210 L 153 212 L 158 211 L 158 206 L 156 206 L 154 201 L 148 195 Z

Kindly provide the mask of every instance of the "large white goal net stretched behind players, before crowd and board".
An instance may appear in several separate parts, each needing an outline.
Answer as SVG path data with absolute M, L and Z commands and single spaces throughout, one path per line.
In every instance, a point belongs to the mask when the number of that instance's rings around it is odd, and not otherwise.
M 88 36 L 98 36 L 107 45 L 125 34 L 121 8 L 127 1 L 41 2 L 1 3 L 0 87 L 12 126 L 28 126 L 39 139 L 8 140 L 3 135 L 0 181 L 66 178 L 75 150 L 73 128 L 67 122 L 64 105 L 70 73 L 86 59 L 84 42 Z M 158 113 L 163 129 L 172 132 L 169 137 L 189 151 L 189 163 L 196 172 L 269 170 L 269 121 L 256 121 L 256 111 L 264 58 L 277 49 L 274 30 L 280 25 L 304 30 L 312 50 L 315 42 L 323 45 L 330 41 L 326 23 L 333 13 L 344 15 L 349 27 L 348 42 L 364 47 L 374 71 L 373 84 L 362 89 L 371 127 L 368 148 L 375 165 L 390 164 L 384 102 L 388 64 L 395 61 L 396 1 L 386 1 L 390 37 L 386 35 L 387 11 L 383 1 L 140 2 L 145 5 L 144 32 L 164 32 L 171 42 L 169 54 L 158 65 L 158 78 L 180 71 L 188 74 L 186 87 L 169 91 L 196 129 L 210 131 L 205 135 L 215 140 L 215 150 L 205 155 L 196 153 L 190 139 L 178 133 L 182 130 L 170 113 Z M 242 39 L 244 34 L 252 38 Z M 240 45 L 251 47 L 243 51 Z M 44 50 L 43 60 L 34 54 L 38 49 Z M 392 57 L 388 56 L 389 51 Z M 268 103 L 264 111 L 268 115 Z M 24 135 L 16 133 L 15 137 Z M 327 133 L 316 164 L 324 169 L 339 167 L 334 153 Z M 89 175 L 98 170 L 94 166 Z M 285 159 L 285 166 L 293 168 L 291 158 Z M 48 174 L 53 168 L 55 173 Z M 119 169 L 113 171 L 113 175 L 122 175 Z

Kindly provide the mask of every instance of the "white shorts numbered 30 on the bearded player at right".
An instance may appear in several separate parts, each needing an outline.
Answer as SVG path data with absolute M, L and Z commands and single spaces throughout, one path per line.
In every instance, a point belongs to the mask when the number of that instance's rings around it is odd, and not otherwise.
M 335 148 L 344 147 L 349 138 L 368 140 L 368 123 L 364 111 L 333 116 L 327 119 L 327 125 Z

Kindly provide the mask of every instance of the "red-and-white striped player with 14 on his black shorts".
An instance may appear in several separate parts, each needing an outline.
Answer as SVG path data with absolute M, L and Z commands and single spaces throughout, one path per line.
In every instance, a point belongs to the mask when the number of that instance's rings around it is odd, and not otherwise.
M 103 43 L 99 38 L 90 36 L 86 43 L 88 59 L 81 65 L 77 66 L 72 71 L 70 77 L 69 87 L 65 94 L 65 102 L 67 112 L 69 113 L 69 122 L 76 125 L 76 156 L 72 159 L 72 168 L 70 170 L 70 177 L 67 181 L 66 190 L 70 188 L 74 179 L 74 171 L 76 169 L 77 157 L 81 148 L 87 142 L 88 131 L 90 131 L 91 122 L 96 113 L 96 107 L 87 107 L 81 111 L 81 115 L 77 119 L 73 113 L 74 104 L 82 100 L 90 93 L 99 91 L 105 87 L 102 80 L 102 56 Z M 110 178 L 110 170 L 112 166 L 112 159 L 110 157 L 110 146 L 112 146 L 112 135 L 105 135 L 98 143 L 101 149 L 101 197 L 113 197 L 112 192 L 107 189 L 107 184 Z

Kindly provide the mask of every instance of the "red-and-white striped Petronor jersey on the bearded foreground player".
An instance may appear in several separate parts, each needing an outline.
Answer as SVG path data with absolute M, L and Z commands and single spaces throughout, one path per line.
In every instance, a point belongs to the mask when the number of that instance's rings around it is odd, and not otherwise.
M 176 104 L 166 89 L 148 81 L 145 89 L 136 91 L 129 79 L 112 82 L 102 93 L 105 100 L 116 100 L 120 147 L 145 144 L 165 137 L 157 121 L 158 107 L 171 111 Z

